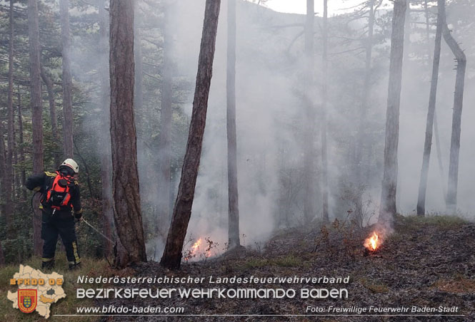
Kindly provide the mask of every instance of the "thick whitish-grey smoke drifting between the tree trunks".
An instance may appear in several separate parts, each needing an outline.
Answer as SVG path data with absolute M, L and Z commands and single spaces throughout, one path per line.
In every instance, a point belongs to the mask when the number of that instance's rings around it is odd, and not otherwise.
M 173 42 L 174 88 L 180 90 L 179 102 L 174 103 L 173 149 L 175 155 L 183 156 L 194 81 L 198 63 L 201 28 L 204 18 L 204 0 L 169 1 L 172 5 L 169 25 Z M 163 18 L 161 10 L 165 2 L 156 6 L 156 16 Z M 321 12 L 316 2 L 316 11 Z M 463 7 L 463 8 L 462 8 Z M 147 4 L 146 8 L 150 7 Z M 416 9 L 416 7 L 413 7 Z M 154 9 L 155 10 L 155 9 Z M 470 90 L 474 86 L 474 27 L 457 24 L 456 16 L 465 16 L 470 6 L 448 6 L 447 21 L 454 28 L 454 38 L 462 43 L 467 54 L 467 73 L 464 95 L 464 110 L 461 125 L 461 149 L 459 167 L 459 193 L 457 207 L 462 214 L 473 217 L 475 199 L 475 130 L 471 120 L 475 111 L 469 103 L 475 97 Z M 139 15 L 140 16 L 140 15 Z M 384 153 L 384 124 L 386 118 L 386 97 L 389 74 L 389 36 L 387 18 L 391 12 L 387 7 L 376 14 L 375 45 L 371 61 L 371 95 L 368 110 L 368 140 L 363 160 L 369 164 L 368 187 L 363 199 L 369 201 L 367 212 L 374 212 L 376 219 L 382 179 L 382 157 Z M 431 19 L 434 20 L 434 10 Z M 385 20 L 386 19 L 386 20 Z M 219 30 L 216 40 L 213 78 L 209 97 L 208 117 L 201 155 L 199 177 L 196 185 L 194 206 L 189 225 L 189 236 L 210 237 L 224 248 L 227 240 L 227 169 L 226 169 L 226 1 L 221 3 Z M 351 202 L 351 171 L 354 155 L 354 140 L 358 129 L 361 91 L 364 83 L 364 43 L 366 19 L 346 23 L 348 16 L 333 16 L 329 19 L 329 100 L 328 108 L 328 151 L 329 151 L 329 197 L 330 219 L 346 216 L 354 207 Z M 238 182 L 241 244 L 268 239 L 276 228 L 303 224 L 304 195 L 304 146 L 302 124 L 304 121 L 304 100 L 302 74 L 304 72 L 304 37 L 302 31 L 304 15 L 281 14 L 247 1 L 238 1 L 237 6 L 237 52 L 236 52 L 236 127 L 238 141 Z M 384 23 L 386 21 L 386 24 Z M 434 51 L 434 30 L 431 26 L 431 41 L 426 43 L 424 28 L 415 21 L 425 21 L 421 11 L 411 13 L 411 41 L 406 41 L 403 88 L 401 93 L 401 115 L 399 131 L 399 180 L 397 207 L 402 214 L 414 214 L 419 187 L 422 148 L 426 127 L 426 113 L 429 100 L 431 61 L 429 53 Z M 149 21 L 139 21 L 145 26 Z M 159 24 L 159 23 L 157 23 Z M 407 26 L 407 24 L 406 24 Z M 354 40 L 351 40 L 354 39 Z M 355 40 L 356 39 L 356 40 Z M 162 41 L 156 36 L 156 41 Z M 150 44 L 141 42 L 147 52 Z M 78 53 L 77 55 L 80 55 Z M 78 58 L 78 56 L 74 56 Z M 316 17 L 314 69 L 316 85 L 311 99 L 317 109 L 321 105 L 321 18 Z M 159 64 L 160 61 L 157 62 Z M 79 66 L 76 64 L 75 66 Z M 433 213 L 444 213 L 443 187 L 448 180 L 449 148 L 451 135 L 451 113 L 454 99 L 455 72 L 449 48 L 443 43 L 439 90 L 436 113 L 441 140 L 441 157 L 444 173 L 439 172 L 436 159 L 435 137 L 432 146 L 426 209 Z M 87 80 L 84 72 L 76 70 L 77 79 Z M 82 76 L 81 76 L 82 75 Z M 144 86 L 144 108 L 159 124 L 159 81 L 153 80 Z M 185 89 L 184 89 L 185 88 Z M 175 93 L 175 96 L 178 94 Z M 180 116 L 181 115 L 181 116 Z M 145 123 L 144 123 L 145 124 Z M 148 133 L 153 139 L 159 129 L 150 123 L 137 124 L 137 130 Z M 319 133 L 320 124 L 315 125 Z M 88 128 L 93 131 L 94 129 Z M 316 135 L 316 172 L 320 171 L 319 136 Z M 141 146 L 139 151 L 139 173 L 141 175 L 142 200 L 153 200 L 154 189 L 148 180 L 151 160 L 156 160 L 154 150 Z M 176 157 L 176 171 L 172 185 L 174 203 L 179 183 L 181 159 Z M 153 162 L 153 161 L 152 161 Z M 319 180 L 319 177 L 317 177 Z M 321 187 L 316 182 L 317 213 L 321 217 Z M 354 191 L 354 189 L 353 189 Z M 159 193 L 159 192 L 158 192 Z M 152 195 L 149 195 L 152 194 Z M 146 209 L 146 222 L 155 222 Z M 242 236 L 242 235 L 245 235 Z M 149 244 L 149 251 L 161 255 L 162 244 Z M 157 259 L 157 258 L 156 258 Z

